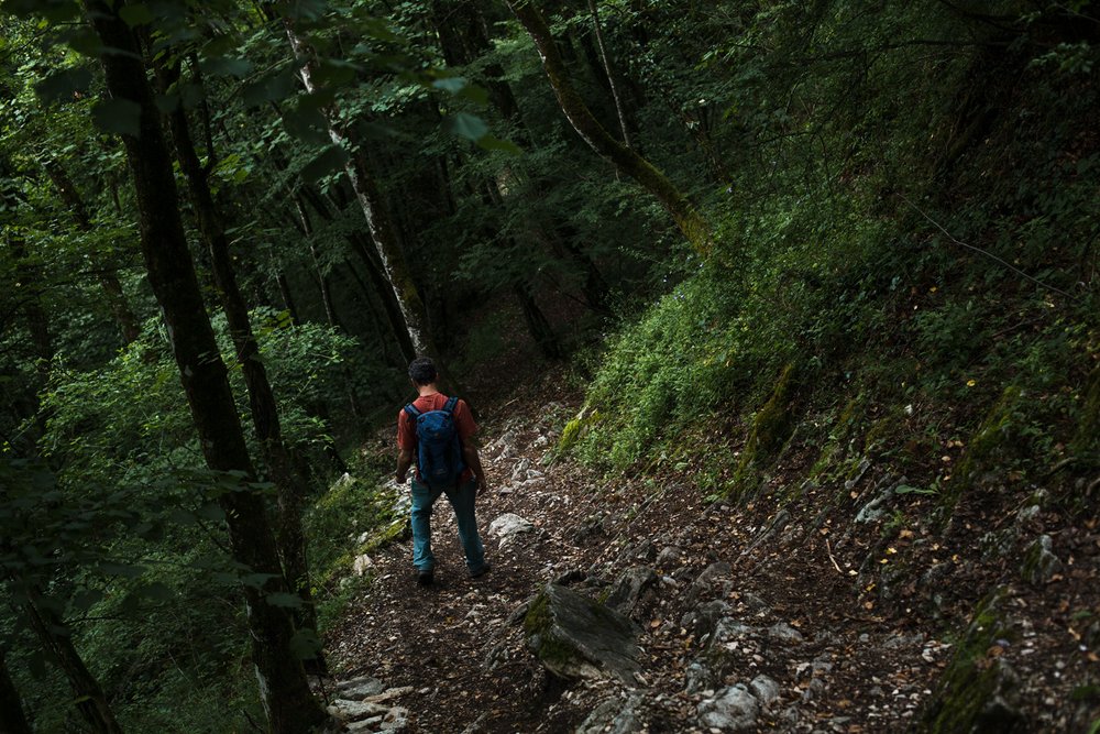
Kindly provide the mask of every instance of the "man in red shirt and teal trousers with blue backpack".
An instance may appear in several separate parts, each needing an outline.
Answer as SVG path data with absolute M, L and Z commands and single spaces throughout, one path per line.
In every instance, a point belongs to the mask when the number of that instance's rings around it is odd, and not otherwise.
M 413 565 L 417 583 L 427 587 L 433 580 L 431 506 L 440 494 L 447 494 L 454 508 L 466 569 L 476 579 L 490 570 L 474 517 L 474 497 L 486 489 L 473 439 L 477 424 L 464 401 L 439 392 L 436 365 L 427 357 L 413 360 L 409 379 L 420 396 L 397 414 L 397 483 L 405 483 L 415 457 Z

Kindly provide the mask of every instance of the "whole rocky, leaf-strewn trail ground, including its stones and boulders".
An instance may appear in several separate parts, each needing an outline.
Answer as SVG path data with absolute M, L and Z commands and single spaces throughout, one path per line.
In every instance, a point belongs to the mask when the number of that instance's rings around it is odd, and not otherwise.
M 1097 731 L 1094 505 L 1036 487 L 935 523 L 889 465 L 818 486 L 796 457 L 755 502 L 712 502 L 684 472 L 546 465 L 576 409 L 556 399 L 486 424 L 491 573 L 466 577 L 446 500 L 435 587 L 408 541 L 359 560 L 372 581 L 327 635 L 353 731 Z M 583 639 L 604 622 L 614 649 Z

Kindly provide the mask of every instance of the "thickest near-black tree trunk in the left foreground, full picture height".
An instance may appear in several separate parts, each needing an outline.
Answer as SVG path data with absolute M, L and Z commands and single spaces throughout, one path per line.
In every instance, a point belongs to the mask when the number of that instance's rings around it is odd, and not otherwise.
M 118 3 L 85 0 L 85 7 L 99 40 L 111 50 L 102 56 L 111 97 L 129 100 L 140 110 L 138 134 L 123 134 L 122 140 L 136 193 L 142 254 L 202 453 L 210 469 L 227 472 L 227 478 L 241 478 L 219 499 L 233 558 L 251 573 L 268 577 L 260 589 L 242 587 L 261 700 L 273 732 L 308 732 L 327 715 L 310 693 L 301 662 L 292 651 L 292 615 L 267 602 L 267 594 L 286 593 L 286 582 L 263 499 L 251 486 L 255 472 L 187 249 L 161 113 L 138 44 L 119 17 Z

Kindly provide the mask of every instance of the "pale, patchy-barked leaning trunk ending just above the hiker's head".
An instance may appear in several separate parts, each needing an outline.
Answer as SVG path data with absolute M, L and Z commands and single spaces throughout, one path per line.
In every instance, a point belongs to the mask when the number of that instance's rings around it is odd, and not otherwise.
M 306 91 L 315 94 L 317 87 L 314 84 L 312 53 L 301 39 L 298 37 L 294 30 L 294 24 L 289 19 L 284 19 L 283 25 L 286 29 L 286 36 L 290 42 L 290 47 L 294 50 L 295 57 L 302 62 L 300 74 Z M 405 261 L 405 253 L 402 251 L 400 243 L 397 240 L 397 232 L 394 229 L 394 223 L 386 209 L 382 193 L 374 178 L 367 172 L 361 152 L 355 152 L 358 145 L 344 144 L 345 140 L 349 140 L 351 143 L 354 143 L 354 141 L 351 141 L 345 132 L 337 128 L 334 110 L 327 110 L 326 113 L 329 122 L 329 138 L 333 144 L 345 150 L 351 149 L 350 152 L 352 152 L 352 155 L 344 166 L 344 173 L 351 182 L 355 199 L 363 209 L 367 229 L 371 232 L 371 238 L 374 240 L 378 259 L 382 261 L 383 270 L 386 273 L 386 278 L 389 281 L 394 295 L 397 297 L 397 303 L 400 306 L 402 316 L 405 321 L 405 329 L 408 331 L 413 347 L 418 354 L 426 354 L 433 358 L 442 374 L 444 370 L 428 330 L 428 317 L 425 311 L 424 300 L 409 273 L 408 264 Z

